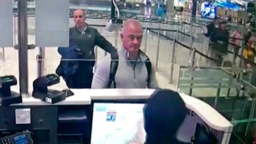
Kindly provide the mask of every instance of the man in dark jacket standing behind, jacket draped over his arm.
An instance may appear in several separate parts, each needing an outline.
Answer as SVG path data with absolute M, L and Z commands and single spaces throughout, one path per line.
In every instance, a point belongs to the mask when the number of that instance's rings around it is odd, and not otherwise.
M 69 29 L 70 45 L 58 48 L 62 60 L 72 60 L 61 61 L 56 74 L 63 77 L 68 88 L 91 88 L 95 45 L 110 52 L 111 56 L 117 52 L 97 29 L 86 24 L 86 15 L 83 10 L 75 10 L 73 16 L 76 26 Z

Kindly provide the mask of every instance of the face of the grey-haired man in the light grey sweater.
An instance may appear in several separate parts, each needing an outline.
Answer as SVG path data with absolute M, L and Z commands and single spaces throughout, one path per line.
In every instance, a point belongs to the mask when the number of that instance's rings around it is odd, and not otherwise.
M 120 35 L 124 48 L 129 52 L 138 52 L 143 36 L 143 29 L 136 24 L 129 24 Z

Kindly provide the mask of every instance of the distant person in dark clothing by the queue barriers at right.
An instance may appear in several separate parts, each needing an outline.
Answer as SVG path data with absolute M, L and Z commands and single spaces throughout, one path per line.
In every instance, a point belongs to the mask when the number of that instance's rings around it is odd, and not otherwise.
M 224 56 L 227 55 L 228 52 L 228 38 L 229 32 L 227 30 L 227 22 L 220 22 L 220 28 L 216 28 L 212 31 L 211 35 L 211 47 L 210 49 L 210 57 L 214 58 L 212 66 L 221 67 Z

